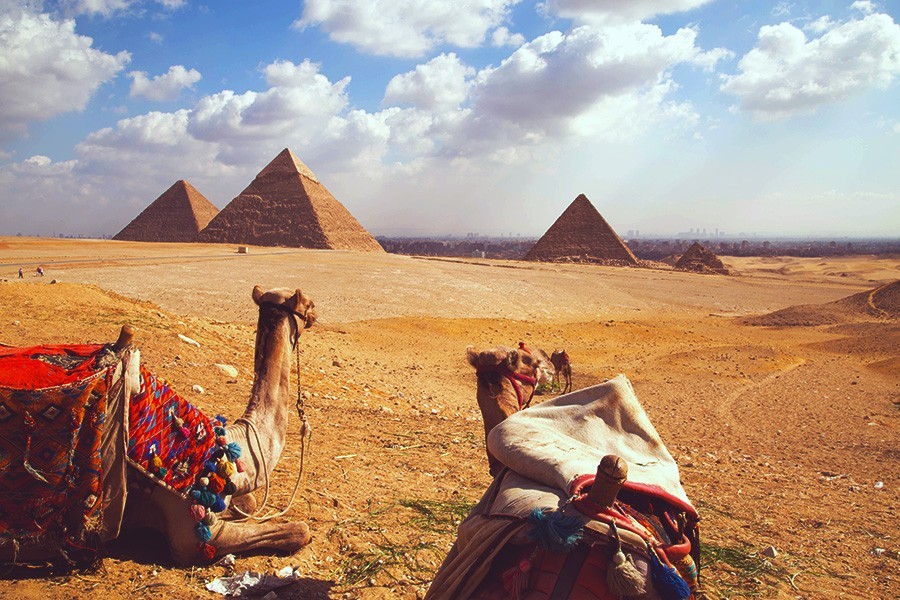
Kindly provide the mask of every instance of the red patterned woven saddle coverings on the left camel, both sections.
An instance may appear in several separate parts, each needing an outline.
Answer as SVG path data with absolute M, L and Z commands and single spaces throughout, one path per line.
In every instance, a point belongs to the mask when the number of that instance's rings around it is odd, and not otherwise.
M 212 425 L 145 369 L 131 389 L 129 360 L 138 353 L 98 344 L 0 347 L 0 545 L 80 544 L 104 528 L 114 537 L 119 523 L 102 522 L 116 519 L 104 496 L 122 504 L 125 458 L 187 494 L 215 445 Z

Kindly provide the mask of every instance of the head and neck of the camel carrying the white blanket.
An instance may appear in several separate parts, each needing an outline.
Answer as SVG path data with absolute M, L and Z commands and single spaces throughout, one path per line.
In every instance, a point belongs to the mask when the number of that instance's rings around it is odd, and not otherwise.
M 485 439 L 501 421 L 531 403 L 535 388 L 547 381 L 553 368 L 546 352 L 531 352 L 522 342 L 519 350 L 497 346 L 477 351 L 470 346 L 466 355 L 478 378 L 476 398 L 484 418 Z M 501 465 L 490 451 L 487 456 L 490 473 L 496 476 Z

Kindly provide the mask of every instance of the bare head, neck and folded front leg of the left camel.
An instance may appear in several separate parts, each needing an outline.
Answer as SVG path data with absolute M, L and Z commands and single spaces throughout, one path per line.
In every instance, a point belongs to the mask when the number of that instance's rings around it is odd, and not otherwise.
M 259 306 L 255 379 L 244 414 L 225 429 L 226 441 L 236 442 L 243 450 L 243 472 L 232 477 L 235 489 L 231 499 L 244 509 L 254 508 L 255 501 L 247 494 L 268 484 L 284 449 L 288 415 L 296 399 L 290 372 L 292 349 L 301 331 L 297 321 L 302 321 L 303 328 L 308 328 L 316 319 L 314 303 L 299 289 L 263 291 L 255 286 L 252 297 Z M 132 332 L 133 328 L 123 327 L 113 348 L 130 347 Z M 190 496 L 185 498 L 162 485 L 148 482 L 148 475 L 132 465 L 128 466 L 128 479 L 124 526 L 149 527 L 162 533 L 173 561 L 178 564 L 203 563 L 214 556 L 263 548 L 292 553 L 310 541 L 309 527 L 302 522 L 255 523 L 220 518 L 209 525 L 211 537 L 206 546 L 214 548 L 214 555 L 204 554 L 203 544 L 198 545 L 194 532 L 197 518 L 191 513 L 194 501 Z M 147 493 L 137 489 L 142 482 L 146 482 L 142 487 Z M 242 499 L 245 501 L 241 502 Z M 227 503 L 229 498 L 224 500 Z M 114 526 L 113 531 L 118 532 L 118 527 Z M 13 560 L 44 560 L 51 558 L 47 556 L 49 551 L 47 544 L 29 544 L 26 540 L 26 543 L 15 544 Z

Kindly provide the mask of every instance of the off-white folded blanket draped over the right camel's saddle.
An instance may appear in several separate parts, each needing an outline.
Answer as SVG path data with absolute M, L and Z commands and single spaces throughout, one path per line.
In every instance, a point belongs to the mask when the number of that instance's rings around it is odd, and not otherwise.
M 628 481 L 690 504 L 675 459 L 624 375 L 515 413 L 491 430 L 488 448 L 516 473 L 565 493 L 615 454 L 628 463 Z

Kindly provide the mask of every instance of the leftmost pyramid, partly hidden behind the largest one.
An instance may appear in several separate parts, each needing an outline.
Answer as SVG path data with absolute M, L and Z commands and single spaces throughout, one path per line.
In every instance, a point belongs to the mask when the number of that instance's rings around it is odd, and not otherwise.
M 219 209 L 184 179 L 172 184 L 114 240 L 136 242 L 195 242 L 197 234 Z

